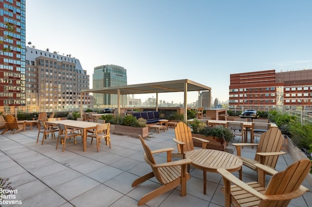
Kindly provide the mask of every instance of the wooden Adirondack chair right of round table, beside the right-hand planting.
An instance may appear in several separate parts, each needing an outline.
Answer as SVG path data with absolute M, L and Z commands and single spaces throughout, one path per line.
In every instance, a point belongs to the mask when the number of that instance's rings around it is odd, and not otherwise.
M 283 142 L 284 137 L 281 131 L 277 127 L 272 127 L 261 135 L 259 144 L 234 143 L 233 145 L 236 146 L 237 156 L 243 161 L 243 165 L 256 171 L 256 163 L 264 164 L 272 169 L 275 168 L 278 156 L 286 154 L 281 151 Z M 257 145 L 254 159 L 241 156 L 241 147 L 254 145 Z M 242 169 L 239 170 L 239 179 L 242 179 Z

